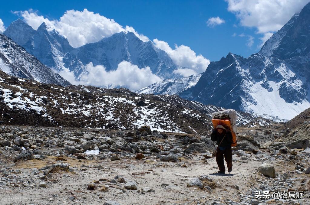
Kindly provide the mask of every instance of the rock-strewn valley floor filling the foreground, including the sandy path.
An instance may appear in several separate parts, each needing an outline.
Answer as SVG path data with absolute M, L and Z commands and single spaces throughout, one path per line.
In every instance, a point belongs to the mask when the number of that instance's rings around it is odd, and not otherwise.
M 275 142 L 279 124 L 238 129 L 233 171 L 218 174 L 207 135 L 2 126 L 1 204 L 310 204 L 309 141 Z

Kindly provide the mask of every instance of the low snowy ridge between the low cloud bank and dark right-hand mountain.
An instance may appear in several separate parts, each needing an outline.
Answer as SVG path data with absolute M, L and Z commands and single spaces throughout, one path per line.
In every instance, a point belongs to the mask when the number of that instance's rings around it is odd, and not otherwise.
M 188 89 L 198 82 L 201 74 L 191 75 L 183 78 L 165 79 L 163 81 L 149 85 L 148 87 L 139 89 L 135 93 L 139 94 L 155 94 L 155 95 L 175 95 L 179 94 L 185 89 Z

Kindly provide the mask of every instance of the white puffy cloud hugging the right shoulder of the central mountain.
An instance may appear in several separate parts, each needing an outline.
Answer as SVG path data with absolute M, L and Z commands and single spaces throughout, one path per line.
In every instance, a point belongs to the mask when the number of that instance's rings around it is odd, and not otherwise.
M 210 64 L 210 60 L 202 55 L 196 55 L 188 46 L 175 45 L 175 49 L 172 49 L 167 42 L 158 39 L 154 39 L 153 43 L 157 48 L 166 51 L 175 64 L 186 67 L 186 69 L 179 68 L 174 71 L 184 77 L 205 72 Z

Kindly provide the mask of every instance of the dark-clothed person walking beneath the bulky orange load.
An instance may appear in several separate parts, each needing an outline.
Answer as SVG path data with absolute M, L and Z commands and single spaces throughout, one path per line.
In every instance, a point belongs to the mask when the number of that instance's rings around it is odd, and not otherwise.
M 224 157 L 227 163 L 228 172 L 232 171 L 232 133 L 223 125 L 217 125 L 215 130 L 212 130 L 211 140 L 217 141 L 216 163 L 219 167 L 220 174 L 225 174 Z

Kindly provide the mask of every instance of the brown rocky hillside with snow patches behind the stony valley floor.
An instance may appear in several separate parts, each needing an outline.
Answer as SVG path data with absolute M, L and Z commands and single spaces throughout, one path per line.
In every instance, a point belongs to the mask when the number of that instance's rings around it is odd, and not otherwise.
M 0 109 L 5 110 L 2 124 L 129 130 L 148 125 L 158 131 L 208 134 L 211 113 L 221 107 L 123 88 L 60 87 L 0 72 Z M 255 118 L 238 112 L 237 123 Z

